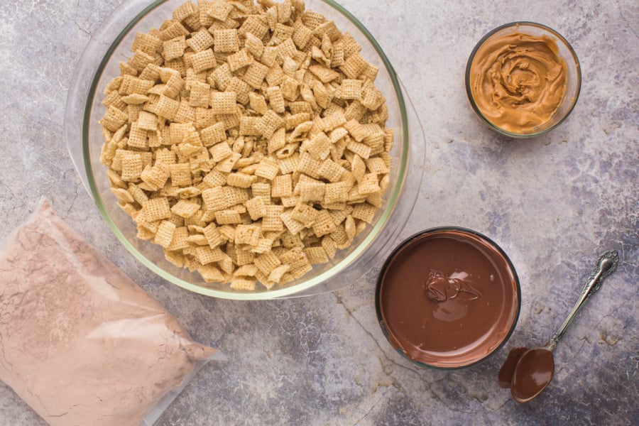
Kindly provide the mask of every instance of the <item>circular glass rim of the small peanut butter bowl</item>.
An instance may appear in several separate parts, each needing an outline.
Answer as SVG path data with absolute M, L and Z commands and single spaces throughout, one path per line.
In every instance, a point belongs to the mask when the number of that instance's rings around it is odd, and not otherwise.
M 557 37 L 557 39 L 560 40 L 567 47 L 568 51 L 572 55 L 572 59 L 574 60 L 575 69 L 577 70 L 577 87 L 576 87 L 575 95 L 574 95 L 573 100 L 571 102 L 570 108 L 566 111 L 566 114 L 564 114 L 564 116 L 562 116 L 561 119 L 557 120 L 557 122 L 555 124 L 553 124 L 552 126 L 548 127 L 547 129 L 536 131 L 534 133 L 515 133 L 515 132 L 511 132 L 511 131 L 507 131 L 507 130 L 501 129 L 501 127 L 496 126 L 495 124 L 493 124 L 492 121 L 488 120 L 486 118 L 486 116 L 484 116 L 484 114 L 482 114 L 482 112 L 480 111 L 479 107 L 477 107 L 477 105 L 475 103 L 475 99 L 474 99 L 472 91 L 471 91 L 471 87 L 470 87 L 470 70 L 471 70 L 471 65 L 473 63 L 475 55 L 477 53 L 477 50 L 479 50 L 479 48 L 481 48 L 481 45 L 483 45 L 484 42 L 486 42 L 486 40 L 488 40 L 488 38 L 491 38 L 493 35 L 495 35 L 499 31 L 505 30 L 506 28 L 510 28 L 510 27 L 513 27 L 513 26 L 532 26 L 532 27 L 540 28 L 540 29 L 542 29 L 544 31 L 548 31 L 552 35 L 555 35 L 555 37 Z M 468 62 L 466 62 L 465 80 L 466 80 L 465 81 L 465 83 L 466 83 L 466 96 L 468 97 L 468 100 L 469 100 L 469 102 L 471 104 L 471 107 L 474 109 L 474 111 L 477 114 L 477 116 L 479 116 L 479 118 L 481 118 L 481 121 L 484 121 L 484 124 L 487 124 L 488 127 L 493 129 L 494 131 L 497 131 L 498 133 L 501 133 L 501 134 L 503 134 L 505 136 L 510 136 L 510 138 L 534 138 L 535 136 L 540 136 L 542 134 L 548 133 L 549 131 L 555 129 L 557 126 L 559 126 L 559 124 L 562 124 L 568 118 L 568 116 L 572 113 L 572 110 L 574 109 L 575 105 L 577 105 L 577 99 L 579 99 L 579 94 L 581 93 L 581 64 L 579 62 L 579 58 L 577 57 L 577 53 L 575 53 L 574 49 L 572 48 L 572 45 L 568 42 L 568 40 L 561 33 L 559 33 L 558 31 L 555 31 L 555 29 L 550 28 L 549 26 L 546 26 L 546 25 L 544 25 L 542 23 L 537 23 L 537 22 L 533 22 L 533 21 L 513 21 L 513 22 L 505 23 L 505 24 L 503 24 L 501 26 L 498 26 L 497 28 L 493 28 L 491 31 L 488 31 L 488 33 L 486 33 L 486 35 L 484 35 L 484 37 L 482 37 L 477 42 L 477 44 L 473 48 L 471 54 L 469 55 Z

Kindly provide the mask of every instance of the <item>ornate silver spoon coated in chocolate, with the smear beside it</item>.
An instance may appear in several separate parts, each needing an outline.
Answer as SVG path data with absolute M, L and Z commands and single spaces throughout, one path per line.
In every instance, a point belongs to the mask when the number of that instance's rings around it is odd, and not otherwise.
M 559 339 L 562 338 L 566 329 L 574 320 L 577 312 L 581 310 L 586 302 L 601 287 L 608 275 L 613 273 L 618 265 L 619 256 L 616 251 L 608 251 L 603 253 L 597 261 L 597 265 L 586 281 L 584 290 L 579 296 L 579 300 L 570 311 L 564 323 L 557 329 L 555 335 L 550 341 L 534 349 L 525 350 L 525 348 L 515 348 L 508 354 L 508 359 L 499 371 L 499 383 L 510 379 L 510 393 L 518 403 L 527 403 L 528 401 L 539 395 L 550 383 L 555 373 L 555 361 L 552 359 L 552 350 L 555 349 Z M 518 358 L 518 359 L 517 359 Z M 510 372 L 512 371 L 512 373 Z

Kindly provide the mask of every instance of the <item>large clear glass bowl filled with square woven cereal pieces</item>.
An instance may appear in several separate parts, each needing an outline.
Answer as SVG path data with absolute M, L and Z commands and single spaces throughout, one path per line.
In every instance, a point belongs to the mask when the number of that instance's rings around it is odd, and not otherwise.
M 425 147 L 407 99 L 333 1 L 133 0 L 80 59 L 65 137 L 114 235 L 160 277 L 310 295 L 370 271 L 413 209 Z

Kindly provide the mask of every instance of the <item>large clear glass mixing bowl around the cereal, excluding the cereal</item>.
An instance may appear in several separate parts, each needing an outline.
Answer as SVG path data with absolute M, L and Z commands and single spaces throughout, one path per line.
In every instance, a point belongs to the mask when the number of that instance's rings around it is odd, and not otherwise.
M 203 295 L 264 300 L 312 295 L 354 283 L 373 265 L 381 263 L 413 210 L 424 171 L 425 140 L 415 109 L 373 35 L 349 11 L 331 0 L 307 0 L 306 7 L 334 20 L 342 32 L 351 33 L 362 45 L 361 55 L 379 67 L 376 86 L 387 99 L 386 125 L 395 131 L 390 185 L 373 224 L 356 236 L 349 248 L 338 251 L 329 263 L 315 265 L 310 273 L 288 285 L 251 293 L 221 283 L 206 283 L 199 274 L 166 261 L 160 246 L 136 238 L 136 226 L 118 206 L 110 190 L 107 168 L 99 162 L 103 139 L 98 120 L 105 111 L 102 92 L 107 82 L 119 75 L 119 62 L 132 55 L 129 49 L 136 32 L 158 28 L 183 2 L 126 1 L 92 37 L 77 65 L 67 97 L 65 138 L 77 172 L 102 217 L 138 261 L 165 280 Z

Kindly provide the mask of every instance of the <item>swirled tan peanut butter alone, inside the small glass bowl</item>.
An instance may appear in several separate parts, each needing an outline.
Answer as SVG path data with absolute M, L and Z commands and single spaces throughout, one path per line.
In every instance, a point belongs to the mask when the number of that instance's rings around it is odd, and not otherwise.
M 529 133 L 552 118 L 566 92 L 566 62 L 547 35 L 488 38 L 469 70 L 474 102 L 488 121 Z

